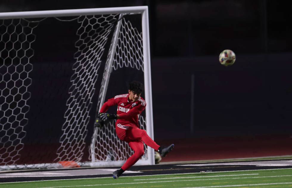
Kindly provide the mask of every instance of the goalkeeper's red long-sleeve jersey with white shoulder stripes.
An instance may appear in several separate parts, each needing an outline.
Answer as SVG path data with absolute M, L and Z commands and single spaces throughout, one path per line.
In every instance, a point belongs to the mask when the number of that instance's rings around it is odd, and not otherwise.
M 138 116 L 145 110 L 146 102 L 142 97 L 137 101 L 129 101 L 129 94 L 117 95 L 114 98 L 108 99 L 101 109 L 101 113 L 105 113 L 110 106 L 117 105 L 117 114 L 119 119 L 117 123 L 128 126 L 136 126 L 140 128 L 138 123 Z

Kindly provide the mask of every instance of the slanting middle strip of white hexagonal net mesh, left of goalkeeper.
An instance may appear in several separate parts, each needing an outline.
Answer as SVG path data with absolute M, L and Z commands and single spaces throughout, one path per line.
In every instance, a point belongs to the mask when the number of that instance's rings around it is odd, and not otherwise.
M 67 100 L 65 123 L 62 127 L 61 146 L 58 148 L 58 161 L 75 161 L 82 159 L 85 148 L 86 127 L 89 123 L 89 109 L 92 106 L 92 96 L 95 93 L 94 84 L 97 81 L 97 70 L 100 68 L 101 57 L 105 50 L 108 35 L 114 22 L 114 15 L 81 16 L 78 22 L 81 27 L 77 31 L 79 40 L 75 43 L 78 51 L 74 54 L 75 71 L 71 77 L 72 86 Z

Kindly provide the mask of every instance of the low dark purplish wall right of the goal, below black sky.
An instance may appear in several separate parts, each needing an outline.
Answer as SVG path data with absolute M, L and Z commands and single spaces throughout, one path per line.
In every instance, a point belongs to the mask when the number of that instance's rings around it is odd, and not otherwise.
M 290 134 L 291 61 L 292 53 L 239 54 L 231 67 L 220 65 L 217 56 L 153 59 L 155 137 Z

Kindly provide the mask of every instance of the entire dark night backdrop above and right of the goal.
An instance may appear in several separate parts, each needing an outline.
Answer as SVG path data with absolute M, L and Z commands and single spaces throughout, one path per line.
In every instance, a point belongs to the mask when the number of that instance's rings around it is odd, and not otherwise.
M 290 1 L 22 0 L 1 1 L 0 11 L 141 5 L 149 6 L 155 139 L 291 134 Z M 236 54 L 231 67 L 219 63 L 224 49 Z

